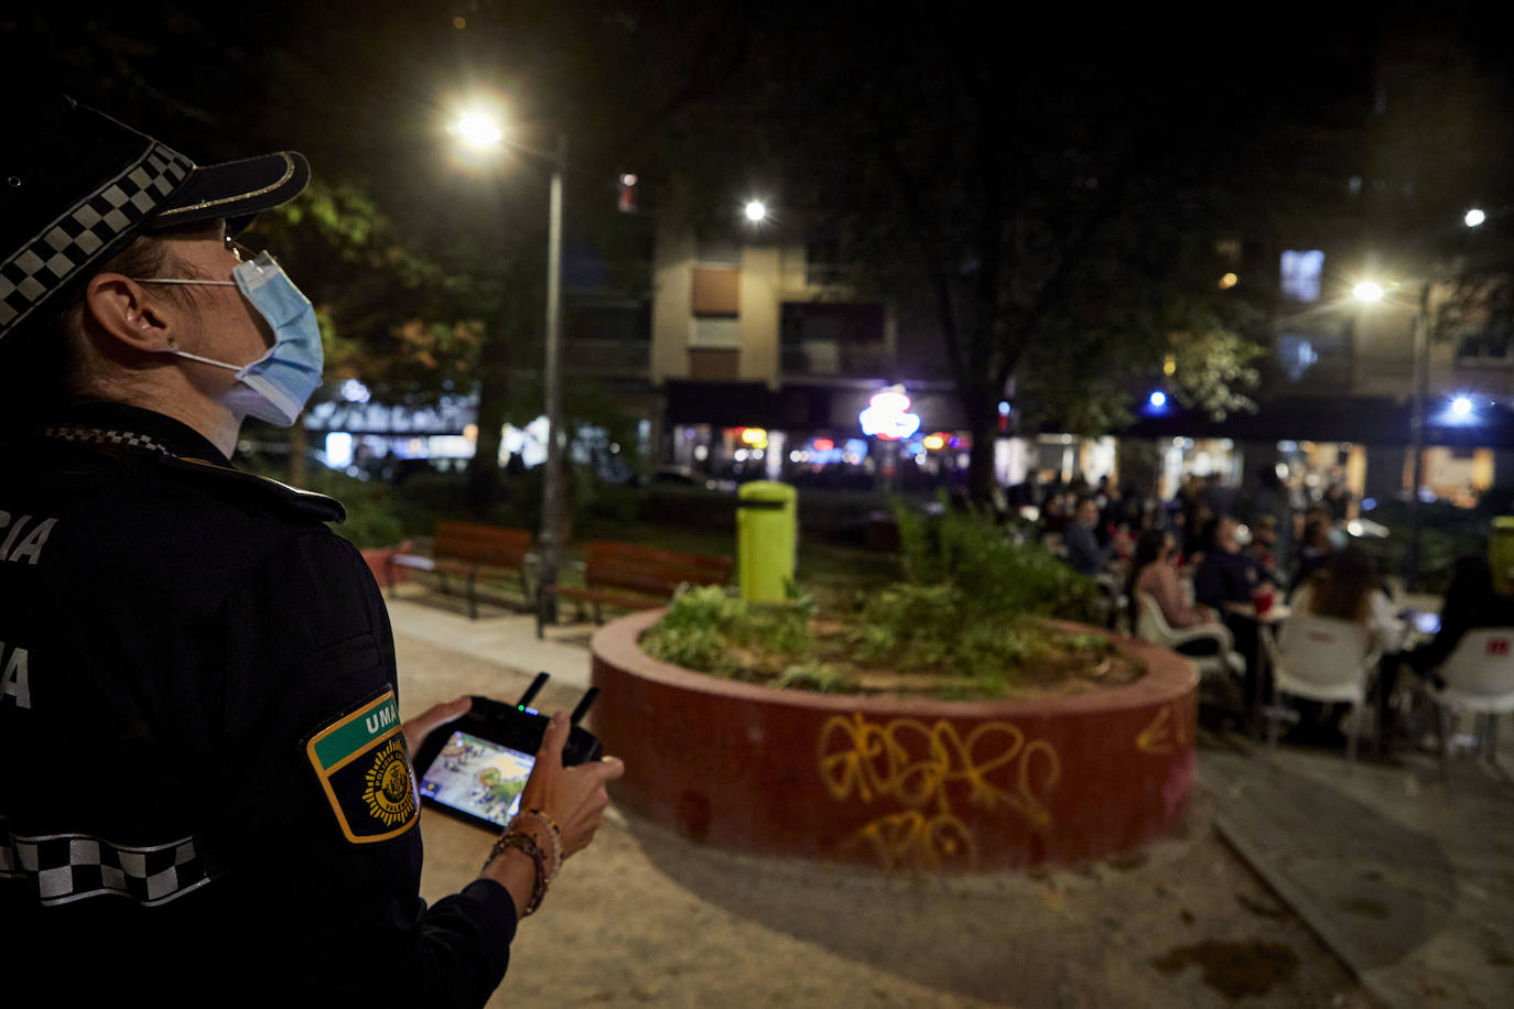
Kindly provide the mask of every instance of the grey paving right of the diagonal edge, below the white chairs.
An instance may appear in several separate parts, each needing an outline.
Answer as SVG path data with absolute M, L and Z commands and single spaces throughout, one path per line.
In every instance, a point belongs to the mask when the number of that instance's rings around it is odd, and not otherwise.
M 1508 738 L 1508 734 L 1505 734 Z M 1387 1006 L 1514 998 L 1514 767 L 1391 762 L 1223 737 L 1198 779 L 1214 824 Z

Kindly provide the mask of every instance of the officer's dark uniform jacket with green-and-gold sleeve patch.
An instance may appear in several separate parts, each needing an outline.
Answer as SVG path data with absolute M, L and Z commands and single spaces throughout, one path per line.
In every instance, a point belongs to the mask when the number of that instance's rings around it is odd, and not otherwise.
M 418 896 L 394 643 L 338 517 L 132 407 L 0 445 L 8 1006 L 419 1009 L 498 985 L 507 891 Z

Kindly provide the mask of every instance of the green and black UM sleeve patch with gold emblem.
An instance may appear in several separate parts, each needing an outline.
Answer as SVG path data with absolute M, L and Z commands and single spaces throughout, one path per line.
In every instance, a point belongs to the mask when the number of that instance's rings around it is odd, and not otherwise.
M 304 752 L 348 841 L 388 841 L 415 826 L 421 796 L 392 690 L 312 735 Z

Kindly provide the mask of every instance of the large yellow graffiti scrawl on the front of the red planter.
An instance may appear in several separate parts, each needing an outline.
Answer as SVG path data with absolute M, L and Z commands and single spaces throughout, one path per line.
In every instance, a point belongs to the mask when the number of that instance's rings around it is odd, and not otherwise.
M 821 729 L 816 762 L 834 799 L 892 799 L 905 808 L 868 823 L 843 846 L 871 850 L 886 868 L 977 861 L 977 841 L 954 812 L 954 794 L 980 809 L 1007 808 L 1036 830 L 1051 829 L 1046 803 L 1061 778 L 1055 747 L 1028 741 L 1008 722 L 981 723 L 963 740 L 945 720 L 927 726 L 834 716 Z

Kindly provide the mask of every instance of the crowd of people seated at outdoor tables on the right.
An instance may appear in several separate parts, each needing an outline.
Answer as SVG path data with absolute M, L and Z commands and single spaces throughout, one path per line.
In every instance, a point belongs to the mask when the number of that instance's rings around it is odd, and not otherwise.
M 1258 682 L 1267 670 L 1255 607 L 1270 601 L 1261 596 L 1287 602 L 1291 613 L 1363 625 L 1382 655 L 1376 723 L 1391 741 L 1400 729 L 1393 699 L 1402 670 L 1434 682 L 1469 629 L 1514 626 L 1514 596 L 1496 590 L 1485 552 L 1467 555 L 1456 561 L 1438 626 L 1416 628 L 1378 558 L 1349 534 L 1354 517 L 1355 501 L 1343 481 L 1301 501 L 1269 466 L 1238 489 L 1217 473 L 1188 477 L 1170 501 L 1116 489 L 1107 478 L 1049 487 L 1037 531 L 1073 570 L 1119 587 L 1132 629 L 1143 595 L 1173 629 L 1228 628 L 1246 666 L 1243 706 L 1270 696 L 1270 684 Z M 1178 650 L 1201 657 L 1219 647 L 1219 637 L 1208 637 Z M 1341 738 L 1343 706 L 1302 706 L 1299 732 L 1328 743 Z

